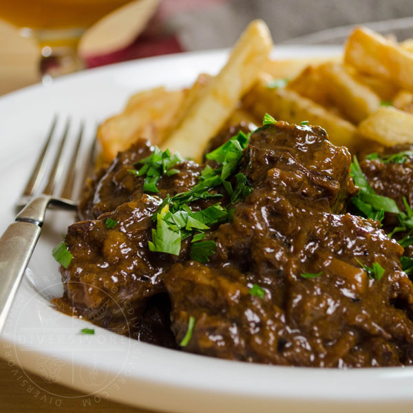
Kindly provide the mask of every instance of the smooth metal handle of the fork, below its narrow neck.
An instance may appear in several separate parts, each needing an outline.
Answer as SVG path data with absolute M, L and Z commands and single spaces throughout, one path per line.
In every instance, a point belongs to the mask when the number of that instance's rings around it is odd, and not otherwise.
M 50 198 L 34 198 L 0 238 L 0 333 L 39 240 Z

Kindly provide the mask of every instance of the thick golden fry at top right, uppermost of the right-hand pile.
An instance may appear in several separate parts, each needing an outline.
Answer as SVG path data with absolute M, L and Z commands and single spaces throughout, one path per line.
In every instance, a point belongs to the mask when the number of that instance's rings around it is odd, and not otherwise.
M 413 54 L 371 30 L 357 28 L 350 34 L 344 62 L 413 92 Z

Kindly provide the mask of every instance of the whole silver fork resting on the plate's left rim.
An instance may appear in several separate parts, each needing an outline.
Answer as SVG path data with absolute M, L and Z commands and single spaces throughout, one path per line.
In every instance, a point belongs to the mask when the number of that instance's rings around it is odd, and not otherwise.
M 84 134 L 84 124 L 80 130 L 74 144 L 70 167 L 64 177 L 63 189 L 56 196 L 56 184 L 63 176 L 65 166 L 63 148 L 70 128 L 70 120 L 67 120 L 65 129 L 59 141 L 59 147 L 54 157 L 52 169 L 46 177 L 47 153 L 50 150 L 50 142 L 54 136 L 57 118 L 55 117 L 39 159 L 34 166 L 32 174 L 23 190 L 17 206 L 23 209 L 17 214 L 15 221 L 6 229 L 0 238 L 0 333 L 3 329 L 8 311 L 12 305 L 17 288 L 21 282 L 25 268 L 28 266 L 30 257 L 36 246 L 41 233 L 41 226 L 45 219 L 47 207 L 75 209 L 78 200 L 74 197 L 74 183 L 81 169 L 81 156 L 79 149 Z M 96 142 L 96 140 L 94 140 Z M 87 168 L 83 178 L 91 173 L 94 158 L 94 145 L 89 149 Z M 43 178 L 47 178 L 47 183 L 39 195 L 34 196 L 41 186 Z

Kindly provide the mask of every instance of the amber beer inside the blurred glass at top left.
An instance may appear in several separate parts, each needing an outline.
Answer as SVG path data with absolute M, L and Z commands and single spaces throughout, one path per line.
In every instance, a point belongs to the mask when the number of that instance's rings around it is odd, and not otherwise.
M 88 28 L 131 0 L 0 0 L 0 18 L 21 28 Z

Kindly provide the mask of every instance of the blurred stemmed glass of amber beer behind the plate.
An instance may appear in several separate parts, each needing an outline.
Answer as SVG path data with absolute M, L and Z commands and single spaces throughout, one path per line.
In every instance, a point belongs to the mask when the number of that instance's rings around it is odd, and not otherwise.
M 41 50 L 40 72 L 59 76 L 83 67 L 78 41 L 93 23 L 131 0 L 0 0 L 0 18 L 32 37 Z

